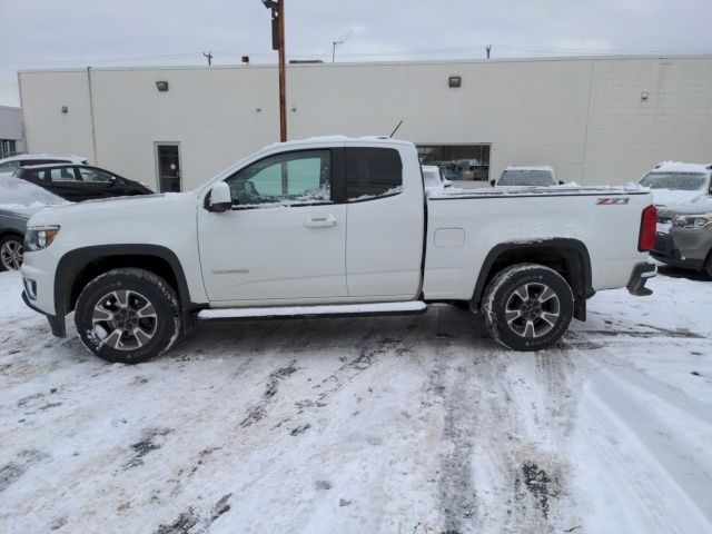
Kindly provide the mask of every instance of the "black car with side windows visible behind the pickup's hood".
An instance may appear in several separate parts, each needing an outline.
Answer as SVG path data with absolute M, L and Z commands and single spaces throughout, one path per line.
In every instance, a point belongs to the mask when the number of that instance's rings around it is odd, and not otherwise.
M 138 181 L 89 165 L 50 164 L 20 167 L 13 176 L 72 202 L 154 194 Z

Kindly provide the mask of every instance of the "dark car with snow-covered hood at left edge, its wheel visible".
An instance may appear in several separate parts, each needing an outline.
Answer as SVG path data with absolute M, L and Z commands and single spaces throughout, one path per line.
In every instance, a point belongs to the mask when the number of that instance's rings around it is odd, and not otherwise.
M 22 266 L 28 219 L 42 207 L 57 204 L 66 200 L 32 184 L 0 176 L 0 271 Z

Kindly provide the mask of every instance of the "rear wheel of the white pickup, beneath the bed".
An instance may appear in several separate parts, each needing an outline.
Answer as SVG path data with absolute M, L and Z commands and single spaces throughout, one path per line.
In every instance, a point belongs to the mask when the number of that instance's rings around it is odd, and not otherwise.
M 555 270 L 517 264 L 502 269 L 487 284 L 482 309 L 495 342 L 512 350 L 541 350 L 558 342 L 568 328 L 574 296 Z

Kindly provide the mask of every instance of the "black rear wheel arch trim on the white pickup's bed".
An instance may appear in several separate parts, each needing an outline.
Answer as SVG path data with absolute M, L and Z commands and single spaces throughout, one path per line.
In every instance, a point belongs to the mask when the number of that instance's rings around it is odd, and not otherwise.
M 496 245 L 485 257 L 471 299 L 471 308 L 479 310 L 487 284 L 502 269 L 515 264 L 533 263 L 557 271 L 574 293 L 574 317 L 586 319 L 586 299 L 595 293 L 592 285 L 589 249 L 578 239 L 532 239 Z

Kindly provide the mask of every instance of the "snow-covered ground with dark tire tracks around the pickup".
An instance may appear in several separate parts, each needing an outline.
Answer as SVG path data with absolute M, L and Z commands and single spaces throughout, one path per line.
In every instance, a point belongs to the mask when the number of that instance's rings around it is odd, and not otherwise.
M 516 354 L 449 306 L 204 327 L 139 366 L 0 274 L 3 532 L 712 532 L 712 281 Z

